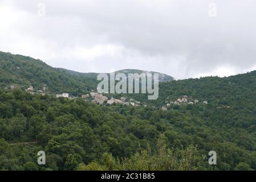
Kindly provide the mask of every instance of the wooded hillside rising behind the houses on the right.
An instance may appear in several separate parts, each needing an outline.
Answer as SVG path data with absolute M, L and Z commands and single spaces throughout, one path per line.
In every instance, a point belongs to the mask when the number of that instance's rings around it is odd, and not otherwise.
M 256 71 L 230 77 L 202 77 L 174 80 L 159 84 L 159 98 L 147 100 L 147 94 L 132 94 L 131 97 L 151 106 L 160 107 L 165 101 L 176 100 L 184 95 L 211 106 L 253 105 L 256 101 Z

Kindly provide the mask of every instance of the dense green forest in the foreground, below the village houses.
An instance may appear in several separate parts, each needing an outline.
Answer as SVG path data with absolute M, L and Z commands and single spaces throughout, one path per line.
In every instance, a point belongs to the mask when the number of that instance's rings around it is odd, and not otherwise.
M 256 169 L 255 102 L 211 105 L 96 105 L 76 98 L 0 92 L 3 170 Z M 46 165 L 36 164 L 38 151 Z M 208 152 L 217 152 L 217 165 Z

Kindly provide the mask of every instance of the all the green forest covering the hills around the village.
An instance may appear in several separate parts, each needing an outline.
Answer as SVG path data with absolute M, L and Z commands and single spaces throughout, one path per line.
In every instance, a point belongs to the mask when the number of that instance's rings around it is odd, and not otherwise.
M 147 94 L 112 95 L 147 107 L 55 98 L 95 89 L 95 73 L 31 57 L 0 52 L 0 73 L 1 170 L 256 169 L 256 71 L 160 82 L 152 101 Z M 30 85 L 47 85 L 47 92 L 25 92 Z M 160 109 L 184 95 L 200 103 Z M 41 150 L 46 165 L 36 163 Z M 209 151 L 217 152 L 217 165 L 209 165 Z

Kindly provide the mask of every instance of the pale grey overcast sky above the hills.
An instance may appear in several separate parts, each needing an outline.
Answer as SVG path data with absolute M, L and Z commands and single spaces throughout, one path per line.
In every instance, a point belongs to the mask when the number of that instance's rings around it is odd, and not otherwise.
M 255 43 L 255 0 L 0 0 L 0 51 L 79 72 L 229 76 Z

